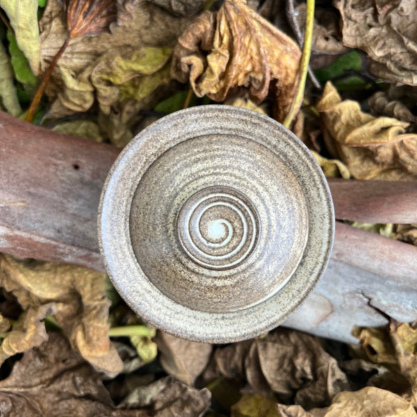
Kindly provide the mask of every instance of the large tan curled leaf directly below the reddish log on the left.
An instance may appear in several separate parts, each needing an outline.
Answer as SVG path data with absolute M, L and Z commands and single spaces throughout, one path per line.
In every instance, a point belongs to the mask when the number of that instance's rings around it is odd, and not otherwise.
M 115 376 L 122 361 L 108 338 L 105 275 L 76 265 L 19 260 L 0 255 L 0 285 L 17 297 L 25 313 L 6 334 L 0 362 L 47 340 L 44 318 L 58 325 L 97 370 Z

